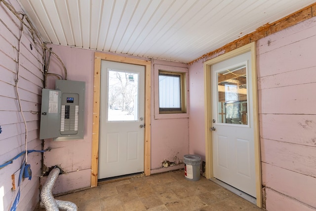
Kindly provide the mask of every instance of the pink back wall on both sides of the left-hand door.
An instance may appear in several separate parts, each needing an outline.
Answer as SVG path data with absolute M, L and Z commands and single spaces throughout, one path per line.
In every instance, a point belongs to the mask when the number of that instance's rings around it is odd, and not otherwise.
M 63 60 L 67 68 L 68 80 L 86 83 L 84 139 L 58 142 L 50 139 L 45 140 L 45 147 L 53 148 L 51 152 L 45 153 L 45 166 L 49 168 L 59 165 L 66 172 L 66 174 L 61 174 L 55 183 L 53 193 L 57 194 L 90 186 L 95 51 L 60 45 L 48 45 L 48 47 L 52 47 L 52 50 Z M 186 64 L 182 63 L 153 60 L 152 87 L 154 86 L 154 64 L 187 67 Z M 64 75 L 62 66 L 54 57 L 51 57 L 49 72 Z M 50 77 L 47 88 L 54 88 L 54 86 L 55 78 Z M 163 160 L 173 162 L 174 157 L 177 156 L 183 162 L 183 156 L 189 152 L 188 118 L 155 120 L 154 106 L 154 89 L 152 88 L 152 173 L 170 170 L 169 168 L 161 168 Z M 45 179 L 46 177 L 41 179 L 41 184 Z

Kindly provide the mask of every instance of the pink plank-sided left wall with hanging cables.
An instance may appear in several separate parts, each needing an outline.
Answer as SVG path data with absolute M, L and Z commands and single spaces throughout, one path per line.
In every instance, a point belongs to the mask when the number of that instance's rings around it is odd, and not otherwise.
M 17 11 L 22 11 L 16 0 L 9 0 Z M 27 122 L 27 149 L 41 150 L 39 139 L 40 99 L 42 81 L 42 50 L 36 46 L 26 27 L 21 34 L 20 21 L 7 7 L 0 3 L 0 165 L 25 150 L 25 126 L 20 113 L 15 91 L 15 79 L 18 77 L 18 92 L 22 111 Z M 2 23 L 3 21 L 3 23 Z M 32 44 L 33 50 L 30 48 Z M 37 50 L 37 48 L 39 50 Z M 19 69 L 17 68 L 20 52 Z M 30 111 L 34 111 L 32 114 Z M 0 210 L 10 210 L 17 195 L 18 175 L 25 156 L 14 160 L 12 164 L 0 169 Z M 31 211 L 40 200 L 40 153 L 28 155 L 27 163 L 31 165 L 32 179 L 24 179 L 20 185 L 20 200 L 17 210 Z M 12 190 L 11 175 L 16 176 L 16 190 Z

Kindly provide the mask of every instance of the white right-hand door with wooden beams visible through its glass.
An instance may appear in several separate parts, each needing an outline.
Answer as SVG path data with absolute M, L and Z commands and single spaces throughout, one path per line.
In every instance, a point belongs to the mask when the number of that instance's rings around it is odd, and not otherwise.
M 213 175 L 256 198 L 251 53 L 211 66 Z

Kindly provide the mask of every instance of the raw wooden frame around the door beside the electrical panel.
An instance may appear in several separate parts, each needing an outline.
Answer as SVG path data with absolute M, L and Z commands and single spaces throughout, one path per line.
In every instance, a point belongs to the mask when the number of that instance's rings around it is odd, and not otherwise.
M 145 67 L 145 135 L 144 135 L 144 173 L 150 175 L 151 161 L 151 61 L 128 58 L 107 53 L 94 53 L 94 83 L 93 83 L 93 126 L 92 126 L 92 160 L 91 187 L 98 185 L 99 162 L 99 120 L 100 120 L 100 84 L 101 61 L 113 61 Z

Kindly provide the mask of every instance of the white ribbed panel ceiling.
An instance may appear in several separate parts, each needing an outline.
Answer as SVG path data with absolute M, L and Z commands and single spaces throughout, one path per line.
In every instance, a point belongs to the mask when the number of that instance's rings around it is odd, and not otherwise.
M 48 43 L 188 63 L 316 0 L 20 0 Z

